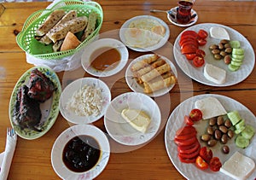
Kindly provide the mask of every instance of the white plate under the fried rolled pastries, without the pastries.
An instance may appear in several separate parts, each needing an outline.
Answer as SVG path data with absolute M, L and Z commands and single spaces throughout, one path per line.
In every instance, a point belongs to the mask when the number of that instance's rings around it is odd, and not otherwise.
M 128 86 L 131 88 L 131 90 L 133 90 L 135 92 L 144 93 L 143 86 L 141 84 L 137 83 L 137 79 L 134 78 L 133 73 L 131 72 L 131 67 L 137 61 L 142 61 L 143 59 L 145 59 L 145 58 L 147 58 L 149 56 L 152 56 L 152 55 L 154 55 L 154 54 L 141 55 L 141 56 L 137 57 L 136 59 L 134 59 L 133 61 L 131 61 L 131 63 L 127 67 L 126 72 L 125 72 L 125 80 L 126 80 L 126 83 L 128 84 Z M 170 61 L 169 59 L 167 59 L 165 56 L 162 56 L 162 55 L 160 55 L 160 58 L 165 60 L 166 63 L 168 63 L 170 65 L 170 67 L 172 68 L 172 73 L 174 73 L 175 77 L 177 78 L 177 70 L 176 70 L 176 67 L 172 64 L 172 61 Z M 168 86 L 167 88 L 163 88 L 161 90 L 156 90 L 155 92 L 149 93 L 149 94 L 146 94 L 146 95 L 152 96 L 152 97 L 163 96 L 167 92 L 172 90 L 174 85 L 175 84 L 172 84 L 172 85 Z

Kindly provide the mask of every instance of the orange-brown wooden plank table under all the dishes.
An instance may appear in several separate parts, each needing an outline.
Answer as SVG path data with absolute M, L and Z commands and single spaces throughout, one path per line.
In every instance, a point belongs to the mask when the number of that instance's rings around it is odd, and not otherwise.
M 172 25 L 166 14 L 152 14 L 149 9 L 171 9 L 177 5 L 175 0 L 111 0 L 97 1 L 102 5 L 104 21 L 101 32 L 119 29 L 125 20 L 137 15 L 155 15 L 165 20 L 170 28 L 169 43 L 174 44 L 177 35 L 185 28 Z M 6 128 L 9 122 L 9 99 L 12 90 L 27 69 L 33 67 L 26 63 L 26 54 L 16 44 L 15 37 L 22 29 L 26 18 L 38 9 L 49 5 L 41 3 L 2 3 L 0 4 L 0 151 L 4 150 Z M 197 0 L 194 9 L 199 15 L 198 23 L 219 23 L 230 26 L 241 32 L 256 49 L 256 3 L 236 1 L 206 1 Z M 169 50 L 172 54 L 172 49 Z M 168 52 L 169 53 L 169 52 Z M 134 58 L 143 53 L 130 50 L 130 57 Z M 177 64 L 174 62 L 177 67 Z M 172 113 L 180 102 L 190 96 L 214 93 L 230 96 L 248 107 L 256 114 L 256 70 L 243 82 L 229 87 L 212 87 L 200 84 L 186 76 L 177 67 L 178 84 L 170 92 L 172 104 L 166 109 L 166 118 Z M 63 72 L 58 73 L 60 79 Z M 84 73 L 84 76 L 89 76 Z M 131 91 L 125 78 L 120 78 L 112 87 L 112 96 L 118 96 L 126 91 Z M 162 99 L 164 101 L 164 99 Z M 166 119 L 162 119 L 165 120 Z M 102 119 L 95 123 L 104 130 Z M 51 166 L 50 153 L 57 136 L 69 127 L 66 119 L 61 114 L 55 125 L 44 136 L 28 141 L 18 138 L 15 156 L 9 171 L 9 179 L 59 179 Z M 184 179 L 172 165 L 166 154 L 164 142 L 164 127 L 160 134 L 146 146 L 126 153 L 112 153 L 108 165 L 97 179 Z

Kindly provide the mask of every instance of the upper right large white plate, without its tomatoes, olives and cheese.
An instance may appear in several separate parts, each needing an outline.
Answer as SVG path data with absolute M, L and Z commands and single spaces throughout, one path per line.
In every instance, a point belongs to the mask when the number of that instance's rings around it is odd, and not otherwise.
M 210 37 L 209 30 L 212 26 L 224 27 L 224 29 L 227 32 L 229 32 L 229 34 L 230 34 L 230 40 L 240 41 L 241 48 L 245 50 L 245 56 L 244 56 L 242 65 L 236 72 L 230 72 L 230 70 L 228 69 L 228 66 L 226 64 L 224 64 L 224 61 L 214 60 L 213 55 L 209 50 L 209 47 L 212 44 L 218 44 L 220 40 Z M 224 86 L 238 84 L 241 81 L 243 81 L 245 78 L 247 78 L 250 75 L 250 73 L 252 73 L 254 63 L 255 63 L 255 55 L 254 55 L 253 47 L 247 41 L 247 38 L 245 38 L 244 36 L 241 35 L 241 33 L 236 32 L 236 30 L 234 30 L 228 26 L 212 24 L 212 23 L 198 24 L 195 26 L 191 26 L 184 31 L 194 30 L 195 32 L 198 32 L 200 29 L 204 29 L 205 31 L 207 31 L 209 33 L 209 37 L 207 38 L 207 44 L 200 47 L 200 49 L 203 49 L 206 52 L 205 61 L 214 66 L 223 68 L 227 72 L 226 82 L 224 84 L 215 84 L 215 83 L 212 83 L 211 81 L 207 80 L 207 78 L 205 78 L 204 74 L 203 74 L 204 66 L 203 67 L 194 67 L 192 65 L 192 63 L 186 59 L 185 55 L 181 54 L 180 46 L 178 44 L 178 42 L 181 38 L 181 34 L 183 33 L 183 32 L 181 32 L 177 36 L 177 39 L 174 43 L 173 54 L 174 54 L 175 60 L 177 61 L 177 65 L 183 70 L 183 72 L 185 74 L 187 74 L 190 78 L 195 79 L 196 81 L 198 81 L 201 84 L 224 87 Z

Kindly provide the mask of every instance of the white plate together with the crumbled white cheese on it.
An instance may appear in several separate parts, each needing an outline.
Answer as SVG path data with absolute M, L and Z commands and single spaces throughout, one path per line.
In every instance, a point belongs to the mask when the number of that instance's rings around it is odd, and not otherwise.
M 62 91 L 60 111 L 73 124 L 90 124 L 102 118 L 110 102 L 110 90 L 102 80 L 79 78 Z

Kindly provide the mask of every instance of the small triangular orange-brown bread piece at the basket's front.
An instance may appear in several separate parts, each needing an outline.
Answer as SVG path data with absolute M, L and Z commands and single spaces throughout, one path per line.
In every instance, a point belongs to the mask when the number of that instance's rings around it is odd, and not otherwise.
M 67 36 L 61 44 L 61 51 L 75 49 L 79 44 L 81 44 L 79 39 L 72 32 L 67 32 Z

